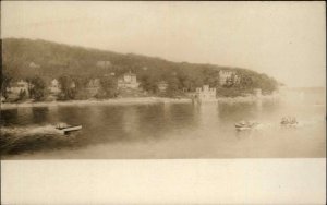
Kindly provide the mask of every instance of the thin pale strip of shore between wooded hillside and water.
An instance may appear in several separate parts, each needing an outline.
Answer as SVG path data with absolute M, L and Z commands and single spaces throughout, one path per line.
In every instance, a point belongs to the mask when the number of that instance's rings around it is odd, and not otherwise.
M 247 97 L 219 97 L 211 102 L 249 102 L 258 99 L 277 99 L 277 96 L 247 96 Z M 68 101 L 39 101 L 21 104 L 1 104 L 1 110 L 31 108 L 31 107 L 57 107 L 57 106 L 92 106 L 92 105 L 144 105 L 144 104 L 191 104 L 191 98 L 164 98 L 164 97 L 137 97 L 137 98 L 113 98 L 113 99 L 92 99 L 92 100 L 68 100 Z

